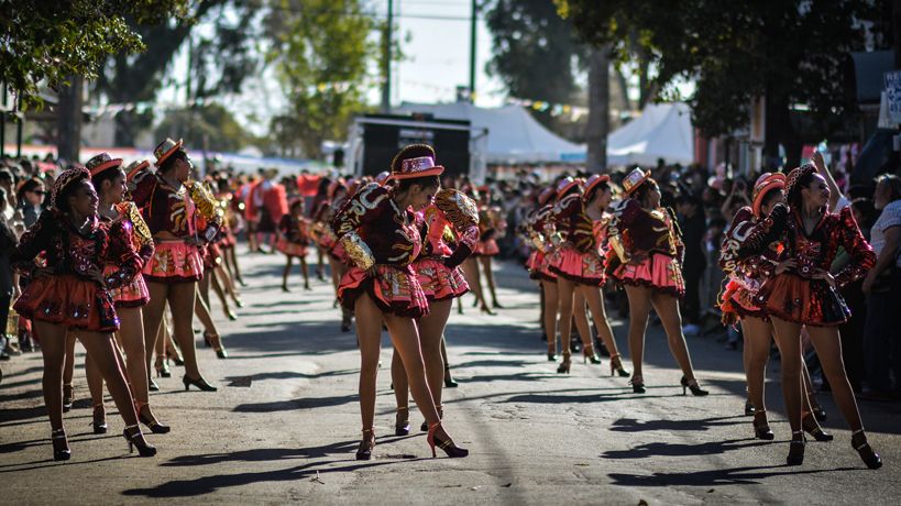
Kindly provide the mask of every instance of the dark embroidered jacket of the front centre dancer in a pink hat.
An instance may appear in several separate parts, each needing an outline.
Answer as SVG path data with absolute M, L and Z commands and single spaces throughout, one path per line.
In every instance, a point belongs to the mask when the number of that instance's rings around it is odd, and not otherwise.
M 331 229 L 353 263 L 409 265 L 421 249 L 416 216 L 392 200 L 391 190 L 371 183 L 336 213 Z

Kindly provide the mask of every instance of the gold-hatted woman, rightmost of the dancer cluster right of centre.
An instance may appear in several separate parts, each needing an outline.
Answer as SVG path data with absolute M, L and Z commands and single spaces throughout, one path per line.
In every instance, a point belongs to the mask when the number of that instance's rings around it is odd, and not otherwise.
M 634 367 L 631 387 L 645 393 L 641 363 L 645 355 L 645 331 L 651 306 L 667 332 L 670 352 L 682 369 L 682 394 L 704 396 L 697 386 L 689 348 L 682 336 L 679 300 L 685 293 L 682 279 L 682 240 L 671 211 L 660 207 L 660 188 L 650 172 L 633 169 L 623 180 L 626 198 L 618 202 L 611 223 L 607 273 L 624 285 L 629 299 L 629 354 Z M 615 253 L 615 254 L 614 254 Z

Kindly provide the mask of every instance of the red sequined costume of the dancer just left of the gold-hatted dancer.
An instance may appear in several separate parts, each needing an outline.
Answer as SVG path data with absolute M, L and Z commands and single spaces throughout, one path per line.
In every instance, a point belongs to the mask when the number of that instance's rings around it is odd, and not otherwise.
M 606 223 L 598 227 L 601 234 Z M 601 255 L 598 237 L 594 222 L 585 212 L 580 193 L 569 194 L 553 208 L 549 220 L 551 241 L 559 246 L 548 260 L 548 268 L 558 276 L 580 285 L 602 286 L 604 284 L 604 258 Z M 603 239 L 602 239 L 603 240 Z

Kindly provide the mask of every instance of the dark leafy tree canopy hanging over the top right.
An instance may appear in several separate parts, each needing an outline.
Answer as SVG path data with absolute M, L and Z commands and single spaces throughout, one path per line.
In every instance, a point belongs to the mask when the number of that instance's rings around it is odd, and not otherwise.
M 710 135 L 729 135 L 748 122 L 751 100 L 766 97 L 771 158 L 787 146 L 789 165 L 801 146 L 835 131 L 856 112 L 845 84 L 848 54 L 865 43 L 864 20 L 875 20 L 873 2 L 834 0 L 556 0 L 582 38 L 611 44 L 627 58 L 635 40 L 657 68 L 666 89 L 677 77 L 696 81 L 688 101 L 694 124 Z M 876 2 L 878 3 L 878 2 Z M 670 97 L 674 96 L 670 89 Z M 801 130 L 795 105 L 810 110 Z

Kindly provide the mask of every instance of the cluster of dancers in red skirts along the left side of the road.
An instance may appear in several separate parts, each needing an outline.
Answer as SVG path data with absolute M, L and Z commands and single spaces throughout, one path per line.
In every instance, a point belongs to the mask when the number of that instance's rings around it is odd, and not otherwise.
M 41 341 L 55 460 L 72 457 L 63 413 L 73 403 L 75 339 L 87 351 L 94 432 L 108 430 L 106 383 L 125 422 L 123 437 L 141 457 L 156 454 L 156 448 L 139 422 L 154 433 L 171 430 L 149 403 L 149 391 L 158 388 L 149 374 L 154 352 L 157 376 L 171 375 L 167 363 L 174 358 L 185 366 L 186 389 L 215 392 L 197 363 L 196 312 L 208 345 L 220 359 L 228 356 L 204 294 L 210 283 L 231 284 L 229 276 L 217 275 L 222 252 L 234 248 L 228 202 L 191 180 L 193 164 L 182 141 L 167 139 L 154 156 L 155 172 L 149 162 L 125 169 L 122 160 L 107 153 L 65 170 L 53 184 L 50 208 L 10 257 L 22 286 L 13 307 Z

